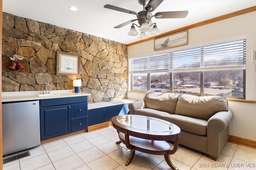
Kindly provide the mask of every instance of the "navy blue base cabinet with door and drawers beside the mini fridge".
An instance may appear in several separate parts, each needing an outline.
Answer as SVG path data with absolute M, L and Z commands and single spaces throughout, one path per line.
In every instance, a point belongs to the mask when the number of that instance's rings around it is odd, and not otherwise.
M 40 100 L 41 141 L 87 127 L 87 96 Z

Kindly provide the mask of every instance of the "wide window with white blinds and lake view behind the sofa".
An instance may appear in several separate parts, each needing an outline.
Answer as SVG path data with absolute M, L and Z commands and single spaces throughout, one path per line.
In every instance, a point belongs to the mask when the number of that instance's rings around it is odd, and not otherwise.
M 134 77 L 144 74 L 144 91 L 245 98 L 245 51 L 241 39 L 130 59 L 132 90 Z

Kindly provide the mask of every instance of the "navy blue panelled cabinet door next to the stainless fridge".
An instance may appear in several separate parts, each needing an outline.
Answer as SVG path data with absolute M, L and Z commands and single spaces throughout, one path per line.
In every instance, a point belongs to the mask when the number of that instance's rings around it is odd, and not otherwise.
M 41 141 L 70 133 L 70 105 L 40 108 Z

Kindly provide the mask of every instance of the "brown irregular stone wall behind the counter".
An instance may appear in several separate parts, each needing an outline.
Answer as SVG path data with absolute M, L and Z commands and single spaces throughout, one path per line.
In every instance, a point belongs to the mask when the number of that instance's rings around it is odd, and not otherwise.
M 126 98 L 127 45 L 3 13 L 2 92 L 73 89 L 82 79 L 81 91 L 89 102 Z M 56 75 L 56 51 L 81 55 L 80 76 Z M 22 71 L 8 68 L 9 57 L 24 57 Z

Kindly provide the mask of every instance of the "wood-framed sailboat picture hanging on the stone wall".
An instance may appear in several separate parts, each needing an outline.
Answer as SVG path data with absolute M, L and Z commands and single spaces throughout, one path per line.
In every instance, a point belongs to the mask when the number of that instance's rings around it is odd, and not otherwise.
M 80 55 L 57 51 L 56 54 L 56 75 L 79 76 Z

